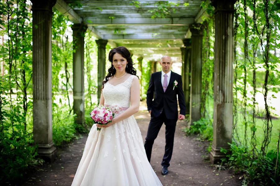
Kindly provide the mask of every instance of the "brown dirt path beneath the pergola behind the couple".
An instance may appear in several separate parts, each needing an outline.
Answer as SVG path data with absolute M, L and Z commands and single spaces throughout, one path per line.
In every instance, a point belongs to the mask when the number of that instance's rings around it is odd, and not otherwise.
M 150 117 L 144 105 L 140 109 L 142 111 L 134 116 L 145 140 Z M 163 186 L 241 185 L 238 178 L 228 170 L 215 170 L 215 166 L 211 166 L 209 160 L 205 160 L 205 157 L 208 157 L 208 153 L 205 152 L 206 144 L 196 141 L 196 137 L 185 136 L 181 131 L 184 125 L 182 121 L 177 122 L 173 156 L 168 168 L 169 174 L 166 176 L 161 175 L 161 159 L 165 146 L 164 125 L 153 145 L 151 165 Z M 87 135 L 83 135 L 81 139 L 74 140 L 59 150 L 58 158 L 54 163 L 45 164 L 40 170 L 35 171 L 23 185 L 71 185 L 82 157 L 86 138 Z

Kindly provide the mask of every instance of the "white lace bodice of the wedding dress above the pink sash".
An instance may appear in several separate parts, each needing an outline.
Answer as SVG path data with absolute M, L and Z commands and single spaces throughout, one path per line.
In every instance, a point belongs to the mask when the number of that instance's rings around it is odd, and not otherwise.
M 120 107 L 130 106 L 130 87 L 134 75 L 129 76 L 124 82 L 111 85 L 109 82 L 104 84 L 102 94 L 104 96 L 104 105 L 117 105 Z

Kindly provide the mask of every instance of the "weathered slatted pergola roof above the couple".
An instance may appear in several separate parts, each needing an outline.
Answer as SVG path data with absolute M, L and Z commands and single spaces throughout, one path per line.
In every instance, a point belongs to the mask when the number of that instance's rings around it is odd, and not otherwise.
M 151 19 L 159 1 L 140 0 L 139 7 L 127 0 L 82 0 L 82 7 L 71 9 L 73 0 L 57 0 L 55 8 L 73 23 L 86 23 L 98 39 L 127 47 L 134 55 L 158 60 L 161 55 L 181 57 L 182 39 L 190 38 L 189 25 L 201 22 L 205 11 L 202 0 L 169 0 L 179 3 L 165 18 Z M 189 3 L 184 6 L 184 3 Z

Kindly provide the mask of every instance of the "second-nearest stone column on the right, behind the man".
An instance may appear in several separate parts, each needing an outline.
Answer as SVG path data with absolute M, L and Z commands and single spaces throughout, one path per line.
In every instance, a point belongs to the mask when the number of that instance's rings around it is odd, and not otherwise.
M 201 71 L 202 71 L 202 38 L 203 27 L 194 24 L 190 27 L 192 33 L 191 42 L 191 88 L 190 88 L 190 125 L 200 119 L 201 103 Z

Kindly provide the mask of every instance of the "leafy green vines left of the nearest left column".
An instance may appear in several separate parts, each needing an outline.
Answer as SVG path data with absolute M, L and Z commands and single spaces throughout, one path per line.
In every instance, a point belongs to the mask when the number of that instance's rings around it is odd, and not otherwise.
M 30 4 L 1 1 L 3 43 L 0 58 L 4 74 L 0 79 L 0 182 L 24 176 L 36 165 L 36 147 L 28 130 L 32 96 L 32 27 Z M 31 108 L 31 109 L 30 109 Z

